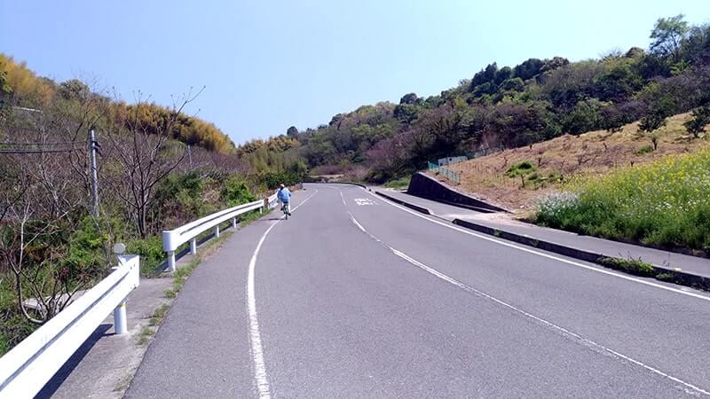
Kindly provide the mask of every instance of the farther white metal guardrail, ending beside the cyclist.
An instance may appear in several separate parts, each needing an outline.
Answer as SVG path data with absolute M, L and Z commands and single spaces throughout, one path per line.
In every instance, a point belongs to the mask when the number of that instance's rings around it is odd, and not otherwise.
M 256 200 L 238 207 L 230 207 L 202 217 L 174 230 L 162 231 L 162 249 L 168 254 L 168 271 L 175 271 L 175 251 L 179 246 L 190 241 L 190 254 L 197 254 L 197 236 L 202 232 L 214 229 L 215 237 L 219 237 L 219 224 L 232 219 L 232 227 L 236 227 L 237 216 L 256 209 L 262 211 L 264 207 L 272 208 L 276 206 L 276 203 L 276 194 L 273 194 L 264 200 Z

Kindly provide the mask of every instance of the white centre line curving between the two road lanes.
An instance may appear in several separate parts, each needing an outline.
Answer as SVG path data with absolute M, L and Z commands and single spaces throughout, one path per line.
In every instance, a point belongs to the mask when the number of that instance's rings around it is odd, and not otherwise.
M 567 336 L 567 337 L 571 337 L 571 338 L 574 339 L 574 340 L 579 340 L 580 342 L 582 342 L 582 343 L 585 344 L 586 346 L 594 347 L 594 348 L 596 348 L 596 349 L 598 349 L 598 350 L 601 350 L 601 351 L 604 351 L 604 352 L 606 352 L 606 353 L 611 354 L 611 356 L 616 356 L 616 357 L 621 358 L 621 359 L 623 359 L 623 360 L 626 360 L 627 362 L 630 362 L 630 363 L 632 363 L 632 364 L 639 365 L 639 366 L 643 367 L 644 369 L 646 369 L 646 370 L 648 370 L 648 371 L 650 371 L 650 372 L 653 372 L 653 373 L 655 373 L 655 374 L 660 375 L 661 377 L 665 377 L 665 378 L 670 379 L 670 380 L 672 380 L 672 381 L 674 381 L 674 382 L 676 382 L 676 383 L 682 384 L 684 387 L 690 388 L 690 389 L 692 389 L 692 390 L 695 391 L 695 392 L 698 392 L 698 393 L 700 393 L 700 394 L 704 394 L 704 395 L 710 396 L 710 392 L 706 391 L 705 389 L 703 389 L 703 388 L 701 388 L 701 387 L 696 387 L 696 386 L 694 386 L 694 385 L 692 385 L 692 384 L 690 384 L 690 383 L 688 383 L 688 382 L 685 382 L 685 381 L 683 381 L 682 379 L 678 379 L 678 378 L 676 378 L 676 377 L 674 377 L 674 376 L 672 376 L 672 375 L 670 375 L 670 374 L 668 374 L 668 373 L 666 373 L 666 372 L 661 372 L 660 370 L 658 370 L 658 369 L 656 369 L 656 368 L 653 368 L 653 367 L 651 367 L 651 366 L 648 365 L 648 364 L 643 364 L 642 362 L 639 362 L 638 360 L 635 360 L 634 358 L 631 358 L 631 357 L 629 357 L 629 356 L 623 355 L 623 354 L 621 354 L 621 353 L 619 353 L 619 352 L 617 352 L 617 351 L 615 351 L 615 350 L 613 350 L 613 349 L 611 349 L 611 348 L 606 348 L 606 347 L 604 347 L 604 345 L 598 344 L 598 343 L 596 343 L 596 342 L 593 341 L 593 340 L 588 340 L 587 338 L 584 338 L 584 337 L 580 336 L 580 334 L 577 334 L 577 333 L 575 333 L 575 332 L 571 332 L 570 330 L 567 330 L 566 328 L 564 328 L 564 327 L 562 327 L 562 326 L 556 325 L 556 324 L 554 324 L 554 323 L 552 323 L 552 322 L 549 322 L 548 320 L 545 320 L 545 319 L 543 319 L 543 318 L 537 317 L 537 316 L 535 316 L 535 315 L 533 315 L 533 314 L 531 314 L 531 313 L 526 312 L 526 311 L 523 310 L 523 309 L 519 309 L 519 308 L 515 307 L 514 305 L 509 304 L 509 303 L 506 302 L 506 301 L 501 301 L 501 300 L 499 300 L 499 299 L 497 299 L 497 298 L 495 298 L 495 297 L 493 297 L 493 296 L 491 296 L 491 295 L 489 295 L 489 294 L 487 294 L 487 293 L 484 293 L 484 292 L 482 292 L 482 291 L 477 290 L 476 288 L 474 288 L 474 287 L 472 287 L 472 286 L 467 286 L 466 284 L 461 283 L 461 281 L 459 281 L 459 280 L 457 280 L 457 279 L 455 279 L 455 278 L 451 278 L 451 277 L 447 276 L 446 274 L 444 274 L 444 273 L 442 273 L 442 272 L 440 272 L 440 271 L 438 271 L 438 270 L 432 269 L 432 268 L 430 268 L 429 266 L 425 265 L 424 263 L 419 262 L 419 261 L 417 261 L 416 259 L 412 258 L 411 256 L 409 256 L 409 255 L 407 255 L 407 254 L 405 254 L 405 253 L 399 251 L 397 248 L 394 248 L 394 247 L 388 245 L 388 244 L 385 243 L 382 239 L 378 239 L 378 238 L 375 237 L 373 234 L 371 234 L 369 231 L 367 231 L 367 230 L 358 222 L 358 220 L 355 219 L 355 216 L 353 216 L 350 212 L 348 212 L 348 215 L 350 215 L 350 218 L 351 218 L 352 223 L 354 223 L 354 224 L 359 228 L 359 230 L 363 231 L 363 232 L 364 232 L 365 234 L 367 234 L 371 239 L 374 239 L 375 241 L 377 241 L 378 243 L 380 243 L 382 246 L 384 246 L 384 247 L 386 247 L 387 249 L 389 249 L 392 254 L 396 254 L 398 257 L 404 259 L 406 262 L 409 262 L 409 263 L 413 264 L 414 266 L 416 266 L 416 267 L 418 267 L 418 268 L 420 268 L 420 269 L 422 269 L 422 270 L 424 270 L 424 271 L 430 273 L 431 275 L 436 276 L 437 278 L 440 278 L 440 279 L 446 281 L 447 283 L 453 284 L 454 286 L 457 286 L 457 287 L 461 288 L 461 289 L 464 290 L 464 291 L 467 291 L 467 292 L 469 292 L 469 293 L 475 293 L 476 295 L 481 296 L 481 297 L 484 297 L 485 299 L 487 299 L 487 300 L 489 300 L 489 301 L 493 301 L 493 302 L 495 302 L 495 303 L 497 303 L 497 304 L 499 304 L 499 305 L 501 305 L 501 306 L 504 306 L 505 308 L 508 308 L 508 309 L 510 309 L 510 310 L 513 310 L 513 311 L 515 311 L 515 312 L 517 312 L 517 313 L 519 313 L 519 314 L 521 314 L 521 315 L 523 315 L 523 316 L 525 316 L 525 317 L 532 318 L 532 319 L 535 320 L 536 322 L 538 322 L 538 323 L 540 323 L 540 324 L 542 324 L 542 325 L 547 325 L 549 328 L 552 328 L 552 329 L 554 329 L 554 330 L 556 330 L 556 331 L 558 331 L 558 332 L 561 332 L 562 334 L 564 334 L 564 335 Z

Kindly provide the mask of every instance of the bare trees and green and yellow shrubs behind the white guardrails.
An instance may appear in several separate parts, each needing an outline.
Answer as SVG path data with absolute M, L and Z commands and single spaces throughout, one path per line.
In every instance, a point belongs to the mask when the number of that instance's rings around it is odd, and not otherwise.
M 240 152 L 217 127 L 188 116 L 199 94 L 188 90 L 169 107 L 127 104 L 0 54 L 0 355 L 104 278 L 114 243 L 139 254 L 143 277 L 152 277 L 164 262 L 162 230 L 302 179 L 302 161 Z

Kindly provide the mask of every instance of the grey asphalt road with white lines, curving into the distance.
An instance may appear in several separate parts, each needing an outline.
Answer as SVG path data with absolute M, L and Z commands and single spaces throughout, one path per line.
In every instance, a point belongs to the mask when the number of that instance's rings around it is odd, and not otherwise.
M 710 396 L 706 293 L 306 188 L 193 272 L 127 397 Z

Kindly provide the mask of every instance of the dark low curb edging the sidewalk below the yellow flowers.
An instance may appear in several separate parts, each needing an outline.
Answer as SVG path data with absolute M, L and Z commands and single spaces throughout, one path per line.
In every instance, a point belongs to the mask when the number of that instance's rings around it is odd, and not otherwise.
M 485 226 L 483 224 L 478 224 L 478 223 L 472 223 L 472 222 L 461 220 L 461 219 L 454 219 L 453 223 L 456 225 L 459 225 L 461 227 L 465 227 L 469 230 L 482 232 L 484 234 L 489 234 L 494 237 L 498 237 L 500 239 L 508 239 L 509 241 L 514 241 L 514 242 L 517 242 L 518 244 L 523 244 L 525 246 L 533 246 L 535 248 L 538 248 L 538 249 L 541 249 L 544 251 L 552 252 L 555 254 L 561 254 L 564 256 L 569 256 L 574 259 L 579 259 L 580 261 L 596 263 L 596 264 L 604 266 L 605 268 L 608 268 L 608 269 L 619 270 L 619 271 L 623 271 L 623 272 L 629 273 L 629 274 L 635 274 L 635 273 L 629 272 L 628 270 L 611 268 L 608 263 L 604 262 L 604 260 L 611 259 L 611 256 L 608 256 L 605 254 L 598 254 L 598 253 L 586 251 L 584 249 L 575 248 L 572 246 L 563 246 L 560 244 L 556 244 L 554 242 L 544 241 L 544 240 L 540 240 L 540 239 L 533 239 L 532 237 L 525 236 L 522 234 L 517 234 L 514 232 L 510 232 L 510 231 L 502 231 L 499 229 L 493 229 L 493 227 Z M 678 284 L 681 286 L 690 286 L 693 288 L 698 288 L 698 289 L 702 289 L 705 291 L 710 291 L 710 278 L 707 278 L 705 276 L 695 275 L 695 274 L 692 274 L 692 273 L 689 273 L 686 271 L 668 269 L 667 267 L 659 266 L 656 264 L 652 264 L 652 267 L 653 267 L 653 275 L 652 276 L 643 276 L 643 277 L 656 278 L 661 281 L 671 282 L 671 283 L 675 283 L 675 284 Z

